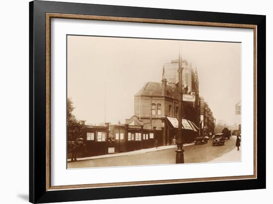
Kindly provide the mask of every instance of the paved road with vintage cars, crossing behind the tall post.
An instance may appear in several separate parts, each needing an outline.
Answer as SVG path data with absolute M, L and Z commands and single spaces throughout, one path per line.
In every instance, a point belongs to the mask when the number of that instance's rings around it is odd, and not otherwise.
M 185 163 L 210 161 L 233 150 L 235 148 L 235 141 L 236 138 L 231 137 L 230 140 L 225 140 L 224 146 L 212 146 L 212 141 L 209 140 L 208 143 L 204 145 L 191 145 L 184 147 Z M 175 150 L 176 149 L 173 148 L 149 153 L 69 162 L 68 168 L 174 164 L 176 154 Z

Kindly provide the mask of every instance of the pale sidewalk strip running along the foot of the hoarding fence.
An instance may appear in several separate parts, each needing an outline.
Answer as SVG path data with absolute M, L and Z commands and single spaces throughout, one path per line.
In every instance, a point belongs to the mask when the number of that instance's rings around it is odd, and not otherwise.
M 194 145 L 194 143 L 184 144 L 183 146 L 186 147 L 186 146 L 190 146 L 190 145 Z M 132 151 L 132 152 L 113 153 L 113 154 L 104 154 L 104 155 L 98 155 L 98 156 L 77 158 L 77 161 L 97 159 L 97 158 L 109 158 L 109 157 L 117 157 L 117 156 L 134 155 L 134 154 L 140 154 L 140 153 L 150 153 L 150 152 L 156 152 L 156 151 L 161 151 L 161 150 L 168 150 L 168 149 L 172 149 L 172 148 L 176 148 L 176 147 L 177 147 L 176 145 L 167 145 L 167 146 L 160 146 L 157 148 L 141 149 L 141 150 L 136 150 L 136 151 Z M 70 161 L 70 159 L 68 159 L 68 161 Z

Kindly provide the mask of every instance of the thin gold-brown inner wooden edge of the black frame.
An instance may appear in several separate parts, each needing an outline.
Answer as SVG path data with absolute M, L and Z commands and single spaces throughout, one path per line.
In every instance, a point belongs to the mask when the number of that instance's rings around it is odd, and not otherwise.
M 254 30 L 254 175 L 247 176 L 227 176 L 227 177 L 209 177 L 209 178 L 191 178 L 191 179 L 173 179 L 157 181 L 140 181 L 140 182 L 117 182 L 104 184 L 80 184 L 51 186 L 51 155 L 50 155 L 50 127 L 51 127 L 51 18 L 81 19 L 81 20 L 102 20 L 102 21 L 119 21 L 119 22 L 137 22 L 137 23 L 157 23 L 157 24 L 175 24 L 190 26 L 209 26 L 209 27 L 227 27 L 227 28 L 246 28 Z M 65 13 L 46 13 L 46 191 L 68 190 L 68 189 L 85 189 L 101 187 L 124 187 L 138 185 L 158 185 L 158 184 L 177 184 L 189 182 L 208 182 L 208 181 L 227 181 L 227 180 L 245 180 L 257 179 L 257 25 L 252 24 L 233 24 L 233 23 L 214 23 L 202 21 L 184 21 L 184 20 L 166 20 L 150 18 L 132 18 L 116 16 L 98 16 L 82 14 L 65 14 Z

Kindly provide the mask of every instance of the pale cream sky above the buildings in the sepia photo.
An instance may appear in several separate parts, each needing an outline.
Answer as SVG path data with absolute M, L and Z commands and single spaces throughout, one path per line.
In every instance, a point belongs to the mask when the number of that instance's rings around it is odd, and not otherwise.
M 103 123 L 105 115 L 106 122 L 124 123 L 134 115 L 136 92 L 146 82 L 161 82 L 164 63 L 178 59 L 179 47 L 183 59 L 197 67 L 199 93 L 216 120 L 240 124 L 235 115 L 241 99 L 240 43 L 68 36 L 73 114 L 89 124 Z

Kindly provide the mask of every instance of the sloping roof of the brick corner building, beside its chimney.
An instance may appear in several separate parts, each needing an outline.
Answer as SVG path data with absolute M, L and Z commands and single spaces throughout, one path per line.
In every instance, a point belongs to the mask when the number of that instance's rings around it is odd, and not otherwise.
M 167 85 L 167 97 L 177 99 L 178 90 L 177 88 Z M 147 82 L 135 96 L 162 96 L 162 84 L 158 82 Z

